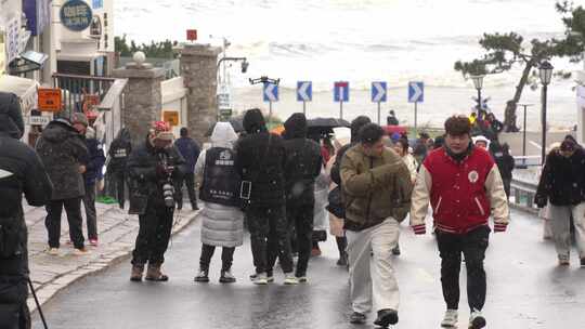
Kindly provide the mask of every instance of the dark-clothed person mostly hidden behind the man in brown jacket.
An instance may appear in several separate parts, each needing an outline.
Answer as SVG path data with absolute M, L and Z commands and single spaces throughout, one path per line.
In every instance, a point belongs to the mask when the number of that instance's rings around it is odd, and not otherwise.
M 339 150 L 337 152 L 337 155 L 335 157 L 335 162 L 332 167 L 332 181 L 335 182 L 341 188 L 341 176 L 339 175 L 339 169 L 341 167 L 341 159 L 343 159 L 343 155 L 348 149 L 350 149 L 352 146 L 358 144 L 360 141 L 360 130 L 368 124 L 372 123 L 372 120 L 366 116 L 359 116 L 358 118 L 353 119 L 351 121 L 351 142 L 350 144 L 343 145 Z M 335 207 L 334 205 L 329 203 L 329 207 Z M 339 207 L 343 207 L 342 205 L 339 205 Z M 344 212 L 344 211 L 341 211 Z M 337 265 L 339 266 L 347 266 L 348 265 L 348 254 L 346 252 L 346 248 L 348 247 L 348 239 L 346 237 L 336 237 L 337 242 L 337 249 L 339 250 L 339 261 L 337 261 Z

